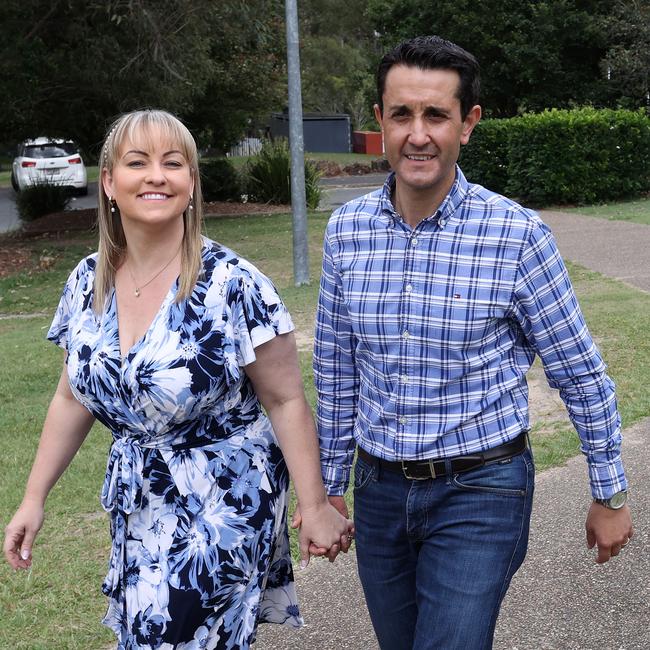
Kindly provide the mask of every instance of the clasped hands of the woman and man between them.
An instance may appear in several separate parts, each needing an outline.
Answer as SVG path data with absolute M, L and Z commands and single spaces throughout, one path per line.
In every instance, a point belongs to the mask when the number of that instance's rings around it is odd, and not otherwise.
M 329 502 L 311 508 L 296 507 L 292 528 L 299 528 L 300 567 L 309 564 L 311 555 L 325 556 L 334 562 L 340 551 L 347 553 L 354 538 L 354 523 L 348 519 L 343 497 L 328 497 Z

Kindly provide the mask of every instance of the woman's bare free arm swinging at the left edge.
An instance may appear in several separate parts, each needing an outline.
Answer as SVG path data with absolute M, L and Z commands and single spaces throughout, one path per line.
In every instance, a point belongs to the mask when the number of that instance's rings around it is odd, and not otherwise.
M 65 367 L 47 411 L 25 495 L 5 529 L 4 554 L 14 569 L 31 566 L 45 500 L 85 440 L 94 418 L 72 394 Z

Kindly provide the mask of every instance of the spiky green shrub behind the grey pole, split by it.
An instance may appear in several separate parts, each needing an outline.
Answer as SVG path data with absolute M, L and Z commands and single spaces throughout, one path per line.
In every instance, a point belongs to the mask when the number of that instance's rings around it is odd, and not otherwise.
M 286 140 L 266 141 L 261 151 L 247 165 L 247 190 L 253 201 L 291 203 L 291 157 Z M 315 210 L 320 203 L 319 173 L 316 166 L 305 161 L 305 194 L 307 207 Z

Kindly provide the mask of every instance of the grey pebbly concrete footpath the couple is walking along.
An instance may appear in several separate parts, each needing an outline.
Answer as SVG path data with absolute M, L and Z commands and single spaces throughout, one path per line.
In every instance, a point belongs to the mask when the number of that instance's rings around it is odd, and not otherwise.
M 650 226 L 550 211 L 542 217 L 566 260 L 650 291 Z M 495 650 L 650 649 L 650 417 L 624 431 L 623 454 L 635 535 L 602 566 L 585 544 L 590 494 L 582 456 L 538 474 L 528 557 L 504 601 Z M 263 625 L 256 650 L 378 648 L 354 553 L 333 565 L 312 561 L 297 585 L 307 625 Z

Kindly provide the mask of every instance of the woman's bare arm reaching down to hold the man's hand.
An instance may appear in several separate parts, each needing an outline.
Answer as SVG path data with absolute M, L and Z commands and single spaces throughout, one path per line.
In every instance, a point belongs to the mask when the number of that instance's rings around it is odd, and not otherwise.
M 305 399 L 293 334 L 276 336 L 255 348 L 255 355 L 256 361 L 244 370 L 268 413 L 293 480 L 302 517 L 300 554 L 305 564 L 310 544 L 327 550 L 338 547 L 352 522 L 329 504 L 325 493 L 316 427 Z

